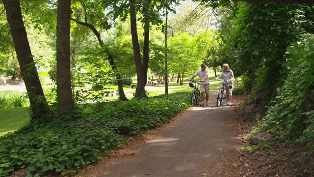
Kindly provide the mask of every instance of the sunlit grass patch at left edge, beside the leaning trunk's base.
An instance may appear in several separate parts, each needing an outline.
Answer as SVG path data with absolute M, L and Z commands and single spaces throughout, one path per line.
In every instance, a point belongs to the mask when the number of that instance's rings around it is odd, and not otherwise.
M 0 136 L 19 129 L 28 120 L 28 107 L 0 110 Z

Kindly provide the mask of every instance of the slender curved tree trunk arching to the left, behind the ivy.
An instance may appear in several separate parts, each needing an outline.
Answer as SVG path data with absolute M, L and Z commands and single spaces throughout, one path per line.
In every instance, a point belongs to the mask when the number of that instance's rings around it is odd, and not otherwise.
M 127 101 L 128 98 L 126 97 L 126 95 L 124 93 L 123 82 L 122 82 L 122 78 L 121 78 L 121 75 L 119 73 L 119 70 L 117 69 L 117 65 L 114 62 L 114 59 L 111 56 L 108 48 L 105 47 L 105 43 L 104 43 L 100 33 L 98 32 L 98 30 L 93 25 L 91 25 L 87 22 L 79 22 L 78 20 L 73 19 L 73 18 L 71 18 L 71 20 L 78 23 L 79 25 L 82 25 L 82 26 L 85 26 L 85 27 L 91 29 L 94 32 L 100 45 L 105 48 L 105 53 L 108 55 L 107 60 L 109 61 L 111 69 L 114 71 L 114 73 L 116 75 L 116 79 L 117 79 L 117 83 L 118 83 L 118 89 L 119 89 L 119 99 L 123 100 L 123 101 Z

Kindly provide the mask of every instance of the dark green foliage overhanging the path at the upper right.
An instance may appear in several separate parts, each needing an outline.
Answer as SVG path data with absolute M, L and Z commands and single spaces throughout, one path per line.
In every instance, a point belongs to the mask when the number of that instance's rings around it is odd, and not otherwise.
M 243 74 L 253 95 L 269 104 L 277 84 L 287 75 L 286 48 L 300 34 L 314 32 L 314 8 L 300 4 L 242 3 L 234 21 L 231 63 L 235 73 Z M 261 95 L 259 94 L 261 93 Z

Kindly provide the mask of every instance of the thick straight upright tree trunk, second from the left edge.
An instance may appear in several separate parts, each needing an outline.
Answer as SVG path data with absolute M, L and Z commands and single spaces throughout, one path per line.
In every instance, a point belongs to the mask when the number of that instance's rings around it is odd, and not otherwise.
M 58 0 L 57 16 L 57 97 L 59 114 L 72 112 L 70 60 L 71 0 Z

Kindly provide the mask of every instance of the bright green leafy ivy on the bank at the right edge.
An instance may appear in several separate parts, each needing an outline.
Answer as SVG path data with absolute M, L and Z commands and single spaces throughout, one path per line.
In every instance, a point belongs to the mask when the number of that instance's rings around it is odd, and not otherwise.
M 314 152 L 314 35 L 294 42 L 287 55 L 287 80 L 277 85 L 276 99 L 261 127 L 290 142 L 312 141 L 309 145 Z

